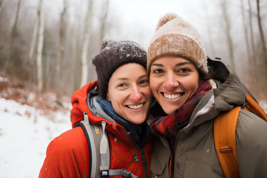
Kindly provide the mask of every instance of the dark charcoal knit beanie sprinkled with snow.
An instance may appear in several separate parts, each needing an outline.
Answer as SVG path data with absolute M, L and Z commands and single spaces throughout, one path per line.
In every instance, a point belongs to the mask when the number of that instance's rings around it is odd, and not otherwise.
M 106 97 L 109 79 L 117 68 L 127 63 L 138 63 L 146 68 L 146 60 L 145 50 L 137 43 L 104 41 L 101 51 L 92 59 L 101 96 Z

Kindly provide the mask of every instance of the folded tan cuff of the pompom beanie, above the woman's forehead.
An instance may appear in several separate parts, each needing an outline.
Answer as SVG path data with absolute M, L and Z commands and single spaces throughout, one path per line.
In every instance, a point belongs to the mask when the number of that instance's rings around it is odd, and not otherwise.
M 165 56 L 181 56 L 191 60 L 199 71 L 208 73 L 204 49 L 194 40 L 180 34 L 167 34 L 154 40 L 147 52 L 147 73 L 150 74 L 151 64 L 155 59 Z

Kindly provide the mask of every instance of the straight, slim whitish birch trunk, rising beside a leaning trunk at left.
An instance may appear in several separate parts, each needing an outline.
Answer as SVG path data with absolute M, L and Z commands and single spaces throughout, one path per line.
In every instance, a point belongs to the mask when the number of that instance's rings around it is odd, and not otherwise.
M 40 0 L 40 3 L 42 4 L 43 0 Z M 43 46 L 44 46 L 44 30 L 45 30 L 45 19 L 44 14 L 42 10 L 42 5 L 40 7 L 40 13 L 39 13 L 39 20 L 40 20 L 40 27 L 39 27 L 39 41 L 37 46 L 37 81 L 38 81 L 38 92 L 43 92 L 43 67 L 42 67 L 42 57 L 43 57 Z

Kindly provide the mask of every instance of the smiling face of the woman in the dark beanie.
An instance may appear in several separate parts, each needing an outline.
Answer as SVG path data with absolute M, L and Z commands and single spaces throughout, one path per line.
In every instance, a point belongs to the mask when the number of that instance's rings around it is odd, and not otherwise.
M 120 66 L 108 82 L 106 99 L 123 119 L 134 124 L 143 123 L 152 100 L 145 68 L 137 63 Z

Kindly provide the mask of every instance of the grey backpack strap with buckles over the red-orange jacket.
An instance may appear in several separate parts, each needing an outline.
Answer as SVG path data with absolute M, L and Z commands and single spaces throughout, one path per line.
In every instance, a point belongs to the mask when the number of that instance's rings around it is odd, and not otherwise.
M 84 112 L 84 120 L 77 123 L 75 127 L 80 126 L 87 139 L 89 148 L 89 178 L 108 178 L 108 176 L 123 176 L 137 178 L 133 173 L 126 169 L 110 170 L 110 152 L 108 134 L 105 130 L 106 122 L 102 121 L 101 126 L 89 122 L 87 112 Z

